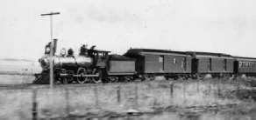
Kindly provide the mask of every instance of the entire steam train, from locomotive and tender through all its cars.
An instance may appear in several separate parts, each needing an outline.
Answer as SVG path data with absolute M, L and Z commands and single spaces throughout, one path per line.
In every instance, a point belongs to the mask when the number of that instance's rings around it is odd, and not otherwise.
M 36 74 L 33 83 L 49 83 L 49 66 L 53 61 L 54 82 L 60 83 L 112 83 L 153 80 L 157 76 L 167 79 L 211 77 L 256 76 L 256 58 L 233 57 L 223 53 L 130 49 L 124 56 L 109 55 L 110 51 L 87 49 L 82 45 L 78 56 L 72 49 L 61 50 L 60 56 L 50 56 L 50 46 L 46 44 L 45 55 L 39 59 L 42 72 Z M 55 54 L 57 40 L 53 41 Z

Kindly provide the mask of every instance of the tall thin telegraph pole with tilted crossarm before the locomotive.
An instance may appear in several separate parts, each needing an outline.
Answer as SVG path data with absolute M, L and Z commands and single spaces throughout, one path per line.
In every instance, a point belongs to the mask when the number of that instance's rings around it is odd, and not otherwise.
M 50 16 L 51 20 L 51 46 L 50 46 L 50 89 L 53 90 L 53 15 L 59 15 L 60 12 L 51 12 L 46 14 L 41 14 L 41 16 Z

